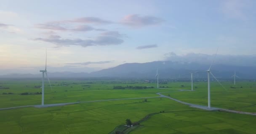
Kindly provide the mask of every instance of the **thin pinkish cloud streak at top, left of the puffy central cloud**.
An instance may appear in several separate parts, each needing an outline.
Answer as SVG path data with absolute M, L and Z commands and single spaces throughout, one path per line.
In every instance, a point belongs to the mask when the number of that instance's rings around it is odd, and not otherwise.
M 94 23 L 94 24 L 110 24 L 111 21 L 106 21 L 101 18 L 96 17 L 83 17 L 83 18 L 77 18 L 74 20 L 69 20 L 69 22 L 76 22 L 76 23 Z

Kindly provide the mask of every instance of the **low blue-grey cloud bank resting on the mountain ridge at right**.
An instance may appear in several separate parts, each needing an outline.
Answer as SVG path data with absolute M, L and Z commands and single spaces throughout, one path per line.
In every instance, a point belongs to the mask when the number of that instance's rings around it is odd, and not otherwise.
M 165 54 L 164 60 L 173 62 L 197 62 L 201 64 L 211 64 L 214 55 L 188 53 L 177 55 L 174 52 Z M 217 54 L 214 64 L 228 64 L 237 66 L 256 66 L 256 55 L 221 55 Z

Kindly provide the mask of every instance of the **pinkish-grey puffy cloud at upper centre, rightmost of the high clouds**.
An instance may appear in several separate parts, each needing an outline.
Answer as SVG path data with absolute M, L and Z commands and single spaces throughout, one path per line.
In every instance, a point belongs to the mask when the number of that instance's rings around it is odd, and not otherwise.
M 160 18 L 154 16 L 140 16 L 138 14 L 127 15 L 121 20 L 123 25 L 135 28 L 157 25 L 162 22 L 163 20 Z

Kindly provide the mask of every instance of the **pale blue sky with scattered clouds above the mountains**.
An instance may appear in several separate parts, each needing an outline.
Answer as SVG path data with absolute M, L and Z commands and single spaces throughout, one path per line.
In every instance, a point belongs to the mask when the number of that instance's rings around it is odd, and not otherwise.
M 1 0 L 0 74 L 91 72 L 123 63 L 255 56 L 254 0 Z M 51 70 L 51 71 L 50 71 Z

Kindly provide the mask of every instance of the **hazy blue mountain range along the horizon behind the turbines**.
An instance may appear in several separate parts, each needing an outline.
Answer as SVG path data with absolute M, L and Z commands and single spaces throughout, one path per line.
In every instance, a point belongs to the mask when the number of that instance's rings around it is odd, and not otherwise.
M 161 78 L 188 78 L 189 72 L 198 70 L 208 70 L 210 65 L 157 61 L 147 63 L 125 63 L 109 69 L 100 70 L 91 73 L 74 73 L 74 72 L 48 72 L 49 77 L 127 77 L 127 78 L 154 78 L 158 68 L 159 77 Z M 236 70 L 241 79 L 254 79 L 256 76 L 255 67 L 240 67 L 235 65 L 213 64 L 212 72 L 218 78 L 231 78 Z M 197 78 L 207 77 L 205 72 L 194 75 Z M 2 75 L 0 77 L 41 77 L 41 74 L 12 74 Z

